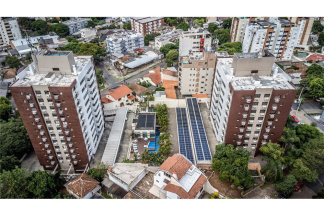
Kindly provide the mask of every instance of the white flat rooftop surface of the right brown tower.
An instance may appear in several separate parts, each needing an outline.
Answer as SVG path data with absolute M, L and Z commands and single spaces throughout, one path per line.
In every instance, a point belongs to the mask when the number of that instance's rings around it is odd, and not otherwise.
M 219 63 L 227 80 L 229 80 L 235 90 L 254 90 L 258 88 L 295 89 L 288 82 L 285 72 L 279 70 L 276 77 L 257 75 L 235 77 L 231 75 L 233 74 L 232 60 L 232 58 L 219 58 L 217 63 Z M 273 63 L 272 74 L 275 66 L 276 64 Z

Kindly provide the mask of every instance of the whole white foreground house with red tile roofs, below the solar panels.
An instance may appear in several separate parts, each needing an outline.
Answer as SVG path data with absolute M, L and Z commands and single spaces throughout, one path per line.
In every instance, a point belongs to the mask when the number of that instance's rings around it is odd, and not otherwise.
M 182 154 L 173 154 L 158 167 L 154 174 L 154 195 L 159 198 L 193 199 L 203 190 L 217 191 L 207 177 Z

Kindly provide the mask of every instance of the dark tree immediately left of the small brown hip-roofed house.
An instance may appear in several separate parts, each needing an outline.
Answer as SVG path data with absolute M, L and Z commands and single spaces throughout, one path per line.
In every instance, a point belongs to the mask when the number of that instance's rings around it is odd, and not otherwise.
M 63 186 L 63 178 L 60 177 L 62 171 L 55 174 L 46 170 L 31 172 L 31 180 L 28 182 L 28 190 L 33 193 L 34 198 L 53 198 L 58 190 Z

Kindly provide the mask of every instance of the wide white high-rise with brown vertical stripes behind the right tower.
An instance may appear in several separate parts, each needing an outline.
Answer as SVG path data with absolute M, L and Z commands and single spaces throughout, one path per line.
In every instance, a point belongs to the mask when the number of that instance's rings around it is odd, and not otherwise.
M 286 19 L 258 20 L 246 26 L 242 52 L 269 51 L 275 60 L 291 58 L 303 29 Z

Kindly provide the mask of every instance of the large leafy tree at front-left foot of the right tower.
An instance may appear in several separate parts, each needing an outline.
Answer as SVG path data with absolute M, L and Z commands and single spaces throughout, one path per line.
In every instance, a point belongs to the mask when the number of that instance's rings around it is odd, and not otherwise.
M 232 144 L 216 145 L 211 167 L 219 171 L 219 180 L 233 182 L 235 187 L 248 188 L 253 185 L 252 175 L 247 169 L 251 153 L 242 147 L 236 149 Z

